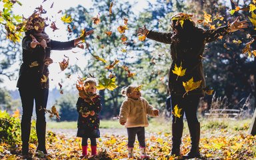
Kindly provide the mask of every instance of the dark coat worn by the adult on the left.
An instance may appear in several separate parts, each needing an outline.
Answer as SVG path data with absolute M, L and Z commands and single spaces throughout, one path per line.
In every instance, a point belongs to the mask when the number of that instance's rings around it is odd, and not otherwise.
M 38 87 L 49 88 L 49 79 L 46 83 L 41 83 L 43 75 L 49 75 L 48 66 L 44 65 L 45 58 L 50 57 L 51 50 L 68 50 L 74 46 L 73 41 L 53 41 L 47 43 L 47 47 L 43 49 L 41 45 L 37 45 L 34 49 L 30 47 L 32 38 L 26 35 L 22 40 L 22 60 L 23 63 L 19 69 L 19 79 L 17 87 Z M 34 65 L 33 65 L 34 64 Z M 35 65 L 37 64 L 37 65 Z

